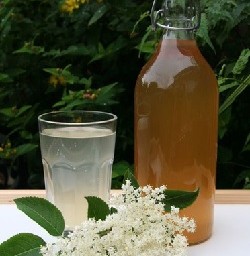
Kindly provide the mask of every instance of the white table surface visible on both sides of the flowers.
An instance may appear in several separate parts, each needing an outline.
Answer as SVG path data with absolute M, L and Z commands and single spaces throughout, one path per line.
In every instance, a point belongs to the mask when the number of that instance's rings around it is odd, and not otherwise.
M 19 232 L 31 232 L 46 242 L 55 239 L 14 204 L 0 204 L 0 243 Z M 250 204 L 216 204 L 212 237 L 188 248 L 188 256 L 222 255 L 250 255 Z

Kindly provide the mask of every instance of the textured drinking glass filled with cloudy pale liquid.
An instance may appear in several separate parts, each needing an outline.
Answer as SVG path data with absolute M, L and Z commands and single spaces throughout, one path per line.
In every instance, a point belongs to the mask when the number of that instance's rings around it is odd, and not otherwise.
M 85 196 L 109 200 L 117 117 L 97 111 L 58 111 L 38 117 L 47 199 L 66 229 L 87 219 Z

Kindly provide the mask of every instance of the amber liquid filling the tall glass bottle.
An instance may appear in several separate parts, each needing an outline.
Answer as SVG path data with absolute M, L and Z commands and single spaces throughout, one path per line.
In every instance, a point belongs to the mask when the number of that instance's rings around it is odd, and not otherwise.
M 164 39 L 135 88 L 135 175 L 140 185 L 194 191 L 181 211 L 194 218 L 190 244 L 212 234 L 218 90 L 194 40 Z

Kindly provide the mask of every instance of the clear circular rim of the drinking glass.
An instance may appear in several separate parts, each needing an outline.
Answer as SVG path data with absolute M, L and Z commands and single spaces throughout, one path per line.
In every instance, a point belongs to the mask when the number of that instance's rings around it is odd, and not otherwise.
M 93 113 L 95 115 L 98 114 L 103 114 L 103 115 L 107 115 L 110 118 L 107 118 L 107 120 L 100 120 L 100 121 L 90 121 L 90 122 L 60 122 L 60 121 L 51 121 L 51 120 L 46 120 L 44 119 L 44 117 L 49 116 L 51 114 L 69 114 L 69 113 Z M 114 122 L 117 120 L 117 116 L 115 114 L 112 114 L 110 112 L 104 112 L 104 111 L 92 111 L 92 110 L 56 110 L 56 111 L 51 111 L 51 112 L 45 112 L 41 115 L 38 116 L 38 121 L 39 122 L 44 122 L 47 124 L 56 124 L 56 125 L 67 125 L 67 126 L 84 126 L 84 125 L 95 125 L 95 124 L 106 124 L 109 122 Z

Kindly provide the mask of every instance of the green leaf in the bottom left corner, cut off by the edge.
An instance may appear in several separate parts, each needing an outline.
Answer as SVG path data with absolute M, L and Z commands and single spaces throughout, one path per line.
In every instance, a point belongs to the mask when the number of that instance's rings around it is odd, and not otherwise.
M 37 256 L 45 241 L 30 233 L 20 233 L 0 244 L 1 256 Z

